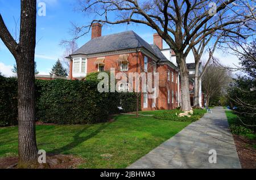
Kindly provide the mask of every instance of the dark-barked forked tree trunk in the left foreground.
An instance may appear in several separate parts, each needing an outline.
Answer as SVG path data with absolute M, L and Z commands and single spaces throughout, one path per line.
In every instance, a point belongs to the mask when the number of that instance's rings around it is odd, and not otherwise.
M 35 135 L 36 0 L 20 1 L 20 33 L 17 43 L 0 14 L 0 38 L 13 54 L 18 69 L 19 167 L 37 160 Z

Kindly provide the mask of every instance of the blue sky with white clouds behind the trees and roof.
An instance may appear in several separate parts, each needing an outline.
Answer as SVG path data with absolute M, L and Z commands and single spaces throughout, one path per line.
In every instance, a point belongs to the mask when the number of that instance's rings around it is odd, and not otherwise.
M 44 75 L 51 71 L 53 64 L 63 55 L 64 48 L 59 45 L 60 41 L 72 38 L 70 33 L 72 28 L 71 22 L 82 25 L 89 23 L 91 19 L 88 16 L 84 16 L 81 12 L 75 11 L 76 0 L 38 0 L 39 2 L 46 3 L 46 16 L 37 16 L 35 61 L 39 74 Z M 0 13 L 7 28 L 9 28 L 9 31 L 14 36 L 14 19 L 18 20 L 20 16 L 20 0 L 0 0 Z M 141 24 L 104 25 L 102 27 L 102 36 L 127 30 L 133 30 L 148 43 L 152 44 L 152 35 L 155 31 Z M 90 33 L 81 37 L 77 44 L 80 47 L 89 40 Z M 164 48 L 168 48 L 165 42 Z M 216 52 L 216 56 L 224 59 L 223 63 L 227 65 L 232 65 L 233 62 L 237 64 L 238 62 L 237 57 L 233 55 L 224 55 L 221 52 Z M 193 62 L 192 54 L 189 54 L 187 61 Z M 6 76 L 11 76 L 11 68 L 14 64 L 15 59 L 13 55 L 11 55 L 0 40 L 0 71 Z

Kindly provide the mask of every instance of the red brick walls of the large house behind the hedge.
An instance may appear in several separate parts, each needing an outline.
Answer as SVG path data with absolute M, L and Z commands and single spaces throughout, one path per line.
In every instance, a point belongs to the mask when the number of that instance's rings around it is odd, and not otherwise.
M 105 57 L 105 71 L 110 71 L 110 68 L 115 68 L 115 73 L 120 72 L 120 66 L 117 62 L 119 55 L 109 55 Z M 98 66 L 94 65 L 94 62 L 97 58 L 88 58 L 87 59 L 87 73 L 97 72 Z M 129 54 L 129 72 L 143 72 L 144 69 L 144 54 L 138 53 L 138 64 L 137 64 L 137 53 Z M 148 71 L 153 72 L 152 59 L 148 57 Z M 69 72 L 72 76 L 72 63 L 70 66 L 71 72 Z M 170 70 L 170 82 L 167 80 L 167 72 Z M 156 72 L 159 72 L 159 96 L 156 98 L 156 108 L 152 108 L 152 99 L 148 98 L 148 108 L 143 108 L 143 94 L 141 96 L 141 107 L 142 110 L 154 110 L 154 109 L 175 109 L 177 107 L 176 102 L 176 92 L 177 92 L 177 83 L 176 83 L 176 74 L 172 68 L 167 65 L 160 65 L 156 67 Z M 172 72 L 174 72 L 174 82 L 172 82 Z M 73 78 L 72 78 L 73 79 Z M 154 79 L 152 80 L 154 82 Z M 142 87 L 140 87 L 141 90 Z M 167 103 L 167 89 L 170 89 L 170 104 Z M 174 91 L 174 103 L 172 104 L 172 94 Z

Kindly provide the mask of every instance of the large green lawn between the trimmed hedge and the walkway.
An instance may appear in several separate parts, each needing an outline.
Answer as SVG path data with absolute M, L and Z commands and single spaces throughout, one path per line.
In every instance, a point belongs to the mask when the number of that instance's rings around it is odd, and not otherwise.
M 190 122 L 118 115 L 112 123 L 36 126 L 38 148 L 84 158 L 79 168 L 126 168 Z M 102 157 L 110 154 L 112 157 Z M 0 157 L 18 155 L 18 127 L 0 128 Z

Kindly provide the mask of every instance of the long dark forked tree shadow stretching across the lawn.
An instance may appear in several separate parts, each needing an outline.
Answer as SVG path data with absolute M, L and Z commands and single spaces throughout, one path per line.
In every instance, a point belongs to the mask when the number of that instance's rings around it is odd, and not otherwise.
M 85 142 L 86 140 L 93 138 L 94 136 L 96 136 L 101 130 L 104 130 L 104 128 L 108 127 L 109 123 L 102 123 L 100 127 L 98 127 L 95 131 L 93 131 L 91 134 L 85 136 L 85 137 L 80 137 L 80 135 L 85 132 L 89 127 L 91 126 L 86 126 L 84 128 L 82 128 L 81 131 L 78 131 L 74 136 L 73 136 L 73 142 L 64 145 L 61 148 L 57 148 L 57 149 L 53 149 L 51 152 L 49 153 L 53 153 L 53 154 L 60 154 L 63 153 L 64 151 L 69 151 L 75 147 L 77 147 L 77 145 Z

